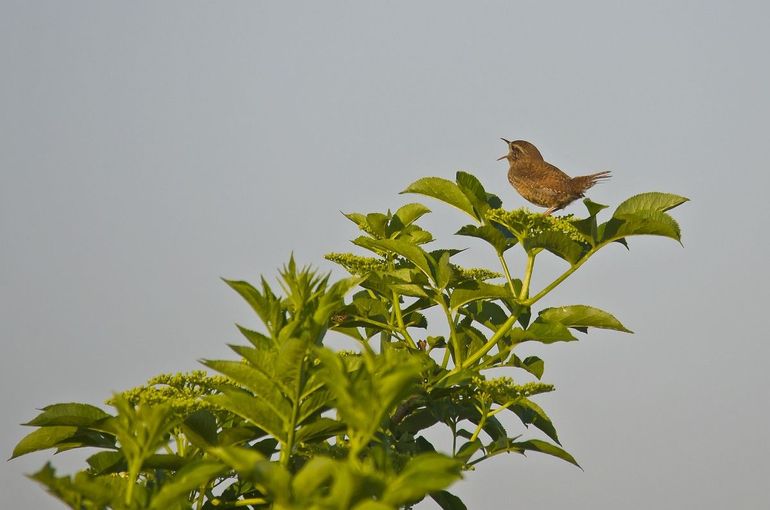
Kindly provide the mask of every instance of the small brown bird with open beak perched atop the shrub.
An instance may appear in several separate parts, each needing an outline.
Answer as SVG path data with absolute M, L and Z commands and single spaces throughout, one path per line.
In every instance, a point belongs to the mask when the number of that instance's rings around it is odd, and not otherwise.
M 602 179 L 608 179 L 610 172 L 598 172 L 579 177 L 570 177 L 543 160 L 537 147 L 524 140 L 509 141 L 508 154 L 497 158 L 507 159 L 508 182 L 519 195 L 540 207 L 548 207 L 545 215 L 564 209 L 570 203 L 582 198 L 586 190 Z

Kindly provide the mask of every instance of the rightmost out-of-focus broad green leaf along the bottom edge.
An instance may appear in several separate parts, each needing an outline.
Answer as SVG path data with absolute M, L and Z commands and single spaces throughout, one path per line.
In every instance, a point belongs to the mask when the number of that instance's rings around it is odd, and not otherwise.
M 394 506 L 418 501 L 458 480 L 461 466 L 460 461 L 440 453 L 416 455 L 386 486 L 382 501 Z

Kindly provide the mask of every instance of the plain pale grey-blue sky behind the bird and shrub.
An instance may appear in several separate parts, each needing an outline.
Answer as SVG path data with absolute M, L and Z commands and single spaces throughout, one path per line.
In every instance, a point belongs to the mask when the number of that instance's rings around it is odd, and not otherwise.
M 44 405 L 233 358 L 234 323 L 257 321 L 220 277 L 272 279 L 292 252 L 332 270 L 357 235 L 340 211 L 395 210 L 457 170 L 525 205 L 505 137 L 612 170 L 594 201 L 691 201 L 672 211 L 683 246 L 609 247 L 544 303 L 635 332 L 528 347 L 584 470 L 506 455 L 452 491 L 471 509 L 769 508 L 767 19 L 759 1 L 4 0 L 0 452 Z M 493 260 L 425 203 L 442 245 Z M 0 463 L 3 507 L 62 508 L 23 476 L 49 453 Z

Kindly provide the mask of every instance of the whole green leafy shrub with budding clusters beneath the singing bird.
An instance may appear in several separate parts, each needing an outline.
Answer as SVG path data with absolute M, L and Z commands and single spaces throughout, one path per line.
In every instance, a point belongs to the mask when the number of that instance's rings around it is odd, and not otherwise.
M 73 476 L 57 476 L 50 464 L 31 475 L 75 509 L 386 510 L 429 497 L 458 510 L 465 505 L 447 488 L 490 457 L 538 452 L 577 465 L 535 402 L 554 390 L 541 381 L 544 361 L 522 359 L 516 348 L 574 341 L 592 328 L 630 333 L 591 306 L 533 307 L 611 243 L 627 246 L 636 235 L 679 241 L 668 211 L 686 199 L 644 193 L 600 222 L 607 206 L 587 199 L 583 218 L 504 210 L 464 172 L 455 181 L 420 179 L 404 193 L 467 214 L 473 223 L 457 234 L 488 244 L 501 272 L 456 264 L 460 250 L 427 249 L 434 239 L 417 224 L 430 212 L 423 204 L 346 214 L 361 232 L 353 243 L 368 253 L 326 258 L 349 278 L 330 282 L 292 258 L 278 288 L 265 279 L 225 280 L 262 328 L 238 327 L 246 345 L 231 346 L 237 359 L 202 361 L 218 375 L 160 375 L 114 395 L 112 414 L 81 403 L 47 406 L 25 424 L 35 430 L 12 458 L 96 449 Z M 505 258 L 516 246 L 527 260 L 518 279 Z M 544 252 L 568 267 L 533 293 Z M 429 309 L 443 315 L 448 333 L 429 333 Z M 329 331 L 360 349 L 331 350 Z M 524 430 L 508 430 L 503 413 Z M 446 427 L 451 445 L 434 445 L 432 427 Z M 534 437 L 522 439 L 527 429 Z

